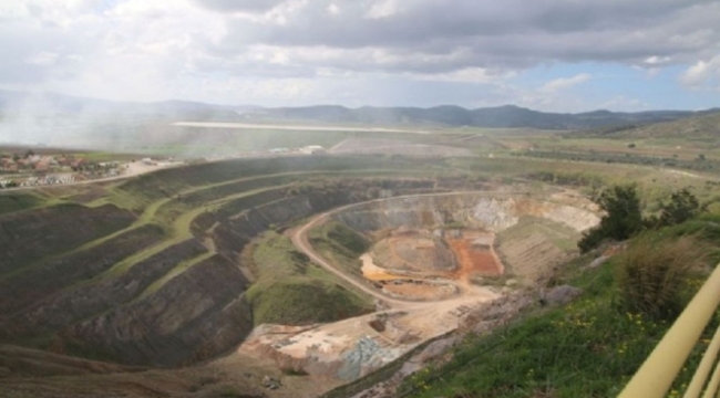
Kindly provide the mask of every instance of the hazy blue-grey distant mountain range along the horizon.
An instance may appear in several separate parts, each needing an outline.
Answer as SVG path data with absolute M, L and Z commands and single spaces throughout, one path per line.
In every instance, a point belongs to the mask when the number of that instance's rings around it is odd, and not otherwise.
M 29 94 L 0 91 L 0 114 L 123 114 L 176 121 L 288 122 L 353 125 L 473 126 L 496 128 L 588 129 L 671 122 L 683 117 L 720 112 L 720 108 L 648 111 L 621 113 L 595 111 L 577 114 L 545 113 L 514 105 L 466 109 L 443 105 L 420 107 L 348 108 L 338 105 L 264 108 L 259 106 L 214 105 L 186 101 L 156 103 L 113 102 L 61 94 Z

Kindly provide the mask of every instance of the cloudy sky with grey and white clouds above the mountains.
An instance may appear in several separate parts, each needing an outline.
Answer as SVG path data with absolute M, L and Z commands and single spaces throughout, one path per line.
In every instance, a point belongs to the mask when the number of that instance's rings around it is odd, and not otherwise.
M 0 88 L 122 101 L 720 106 L 720 1 L 0 0 Z

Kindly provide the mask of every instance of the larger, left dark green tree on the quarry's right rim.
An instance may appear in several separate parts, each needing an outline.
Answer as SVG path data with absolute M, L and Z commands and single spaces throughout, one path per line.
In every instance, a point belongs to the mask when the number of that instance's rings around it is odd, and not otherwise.
M 583 234 L 577 247 L 583 253 L 598 247 L 604 240 L 623 241 L 642 230 L 640 199 L 634 185 L 614 186 L 595 198 L 605 211 L 600 224 Z

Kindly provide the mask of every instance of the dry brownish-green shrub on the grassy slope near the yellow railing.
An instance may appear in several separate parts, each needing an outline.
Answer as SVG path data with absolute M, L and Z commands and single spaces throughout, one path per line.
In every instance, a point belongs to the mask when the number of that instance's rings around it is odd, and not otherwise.
M 691 271 L 704 264 L 707 252 L 693 237 L 644 234 L 635 239 L 615 264 L 624 310 L 673 320 L 686 304 Z

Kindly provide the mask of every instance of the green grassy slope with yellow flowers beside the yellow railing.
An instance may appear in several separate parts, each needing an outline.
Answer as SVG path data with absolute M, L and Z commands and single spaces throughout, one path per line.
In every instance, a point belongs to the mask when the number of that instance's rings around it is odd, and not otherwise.
M 710 216 L 650 235 L 670 244 L 678 237 L 691 234 L 717 252 L 720 229 L 711 220 L 719 219 Z M 566 264 L 555 281 L 582 287 L 584 293 L 578 300 L 564 307 L 537 305 L 505 328 L 467 336 L 450 362 L 419 371 L 405 380 L 398 396 L 615 397 L 672 320 L 627 310 L 617 276 L 621 255 L 597 269 L 587 269 L 596 255 Z M 707 263 L 717 260 L 714 256 Z M 695 269 L 687 279 L 677 281 L 682 289 L 679 300 L 689 301 L 707 272 Z M 671 397 L 687 387 L 718 320 L 708 327 Z

